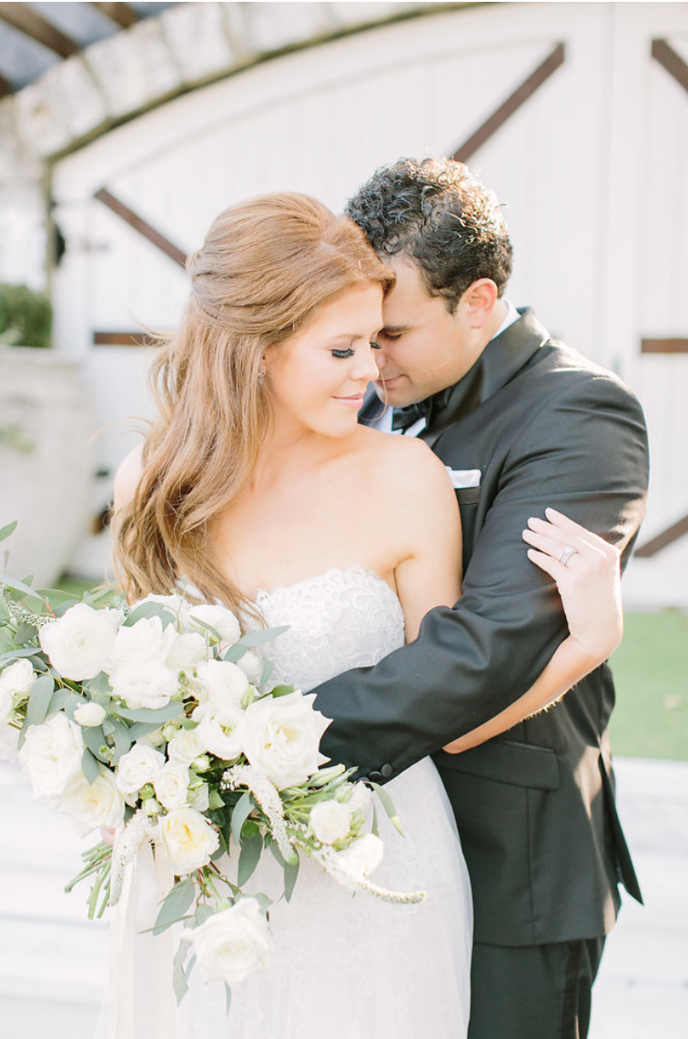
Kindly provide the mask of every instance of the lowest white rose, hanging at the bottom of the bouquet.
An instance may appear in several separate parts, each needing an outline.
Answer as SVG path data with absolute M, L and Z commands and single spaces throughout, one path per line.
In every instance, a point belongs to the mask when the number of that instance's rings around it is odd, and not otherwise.
M 191 932 L 204 978 L 233 985 L 270 964 L 272 937 L 256 899 L 240 899 Z

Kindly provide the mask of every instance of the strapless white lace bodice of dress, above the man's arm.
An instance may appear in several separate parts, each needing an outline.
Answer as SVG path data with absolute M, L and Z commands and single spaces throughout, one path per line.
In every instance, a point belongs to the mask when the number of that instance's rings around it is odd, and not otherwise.
M 263 647 L 271 683 L 307 691 L 351 667 L 376 664 L 404 642 L 401 604 L 363 566 L 333 568 L 256 596 L 269 628 L 289 630 Z

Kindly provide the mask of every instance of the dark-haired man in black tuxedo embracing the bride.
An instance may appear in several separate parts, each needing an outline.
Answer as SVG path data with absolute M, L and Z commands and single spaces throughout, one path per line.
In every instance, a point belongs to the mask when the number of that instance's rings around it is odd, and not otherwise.
M 526 556 L 528 517 L 554 506 L 628 560 L 647 480 L 642 411 L 504 297 L 511 244 L 466 166 L 401 160 L 347 212 L 397 274 L 376 390 L 390 425 L 450 471 L 466 572 L 461 600 L 432 610 L 416 642 L 318 688 L 334 718 L 322 749 L 377 782 L 434 753 L 473 886 L 470 1039 L 582 1039 L 618 882 L 640 900 L 614 806 L 610 671 L 482 746 L 440 748 L 521 696 L 566 633 Z

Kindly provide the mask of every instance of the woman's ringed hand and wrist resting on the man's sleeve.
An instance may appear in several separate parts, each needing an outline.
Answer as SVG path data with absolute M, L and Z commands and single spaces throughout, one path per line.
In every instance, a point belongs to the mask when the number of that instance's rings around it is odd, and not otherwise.
M 528 558 L 556 581 L 572 637 L 601 664 L 621 641 L 620 552 L 556 509 L 523 532 Z

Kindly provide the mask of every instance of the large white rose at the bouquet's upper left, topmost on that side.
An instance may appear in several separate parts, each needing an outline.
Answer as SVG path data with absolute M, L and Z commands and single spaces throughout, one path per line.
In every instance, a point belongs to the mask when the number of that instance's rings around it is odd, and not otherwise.
M 120 610 L 94 610 L 77 603 L 58 620 L 44 624 L 38 638 L 62 677 L 80 682 L 104 670 L 121 622 Z

